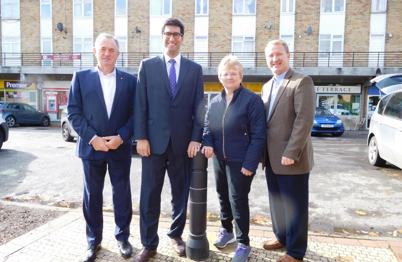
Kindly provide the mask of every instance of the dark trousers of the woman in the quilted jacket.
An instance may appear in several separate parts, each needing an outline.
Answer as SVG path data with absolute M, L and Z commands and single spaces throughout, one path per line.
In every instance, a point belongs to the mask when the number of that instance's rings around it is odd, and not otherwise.
M 222 228 L 232 233 L 232 220 L 234 220 L 237 242 L 248 246 L 250 244 L 248 237 L 250 230 L 248 193 L 250 193 L 254 174 L 246 176 L 241 172 L 242 161 L 227 161 L 214 157 L 212 163 L 214 164 Z

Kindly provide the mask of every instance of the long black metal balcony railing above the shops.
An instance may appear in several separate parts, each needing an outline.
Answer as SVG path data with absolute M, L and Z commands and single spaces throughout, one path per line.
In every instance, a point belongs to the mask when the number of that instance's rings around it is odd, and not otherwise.
M 204 67 L 216 67 L 226 52 L 182 52 L 182 55 Z M 267 66 L 263 52 L 232 52 L 245 67 Z M 1 53 L 1 66 L 79 66 L 96 65 L 93 53 Z M 136 67 L 142 59 L 159 53 L 120 53 L 116 65 Z M 50 59 L 50 58 L 51 59 Z M 62 59 L 55 59 L 60 58 Z M 44 59 L 45 58 L 45 59 Z M 75 58 L 75 59 L 74 59 Z M 293 52 L 293 67 L 402 67 L 401 52 Z

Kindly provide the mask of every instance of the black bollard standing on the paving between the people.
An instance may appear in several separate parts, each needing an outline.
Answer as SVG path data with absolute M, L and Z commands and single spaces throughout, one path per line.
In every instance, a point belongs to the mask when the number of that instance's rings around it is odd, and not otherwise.
M 207 239 L 207 167 L 208 159 L 201 150 L 191 160 L 190 172 L 190 233 L 186 241 L 186 256 L 200 261 L 209 257 Z

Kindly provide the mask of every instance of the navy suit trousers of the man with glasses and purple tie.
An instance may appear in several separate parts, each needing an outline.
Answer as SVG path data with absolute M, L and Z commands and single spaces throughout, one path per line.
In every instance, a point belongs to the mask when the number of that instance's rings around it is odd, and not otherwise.
M 171 188 L 171 226 L 168 236 L 181 237 L 186 225 L 187 201 L 190 192 L 190 158 L 175 155 L 171 141 L 163 154 L 142 157 L 141 194 L 139 197 L 139 232 L 141 244 L 156 250 L 160 200 L 165 173 L 168 171 Z

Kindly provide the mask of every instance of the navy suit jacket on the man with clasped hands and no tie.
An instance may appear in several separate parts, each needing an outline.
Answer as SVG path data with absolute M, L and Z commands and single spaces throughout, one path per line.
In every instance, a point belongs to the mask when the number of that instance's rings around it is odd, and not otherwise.
M 96 67 L 74 73 L 68 96 L 67 118 L 79 136 L 77 157 L 95 160 L 110 154 L 114 160 L 131 158 L 136 86 L 136 76 L 116 68 L 116 93 L 109 119 Z M 96 151 L 89 145 L 94 135 L 120 135 L 123 145 L 108 152 Z

